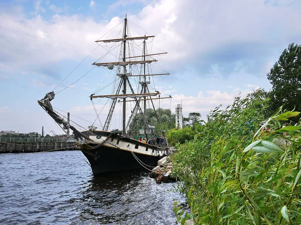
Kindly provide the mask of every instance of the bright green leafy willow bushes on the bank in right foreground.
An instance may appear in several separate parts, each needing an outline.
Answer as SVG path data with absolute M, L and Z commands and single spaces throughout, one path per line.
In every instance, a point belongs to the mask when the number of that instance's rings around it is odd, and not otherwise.
M 258 104 L 248 96 L 217 107 L 172 155 L 191 209 L 178 214 L 181 224 L 301 224 L 301 127 L 279 119 L 298 113 L 280 107 L 259 126 L 266 106 Z

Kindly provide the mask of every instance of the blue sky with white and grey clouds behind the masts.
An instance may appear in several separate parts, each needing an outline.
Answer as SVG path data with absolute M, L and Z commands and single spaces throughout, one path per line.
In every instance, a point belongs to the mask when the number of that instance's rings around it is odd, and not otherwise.
M 103 54 L 95 40 L 125 14 L 131 34 L 155 35 L 149 44 L 168 52 L 156 67 L 171 74 L 154 79 L 172 100 L 160 106 L 182 103 L 184 116 L 206 119 L 238 94 L 270 90 L 266 73 L 289 43 L 301 44 L 299 0 L 1 0 L 0 130 L 62 133 L 37 103 L 52 90 L 53 107 L 91 125 L 89 96 L 112 75 L 91 65 Z

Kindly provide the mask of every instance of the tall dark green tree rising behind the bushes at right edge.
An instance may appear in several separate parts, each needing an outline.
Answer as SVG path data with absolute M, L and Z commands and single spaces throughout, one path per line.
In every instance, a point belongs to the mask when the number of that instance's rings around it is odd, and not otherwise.
M 270 114 L 281 105 L 287 110 L 301 110 L 301 45 L 291 43 L 267 73 L 273 85 L 269 92 Z M 297 116 L 294 121 L 298 121 Z

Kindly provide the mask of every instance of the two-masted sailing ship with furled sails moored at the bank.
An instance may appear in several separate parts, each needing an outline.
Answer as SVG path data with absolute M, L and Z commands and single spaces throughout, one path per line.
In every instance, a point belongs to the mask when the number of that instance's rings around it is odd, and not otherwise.
M 66 120 L 65 116 L 60 115 L 53 109 L 50 101 L 55 97 L 54 91 L 47 93 L 43 99 L 38 100 L 38 103 L 64 130 L 69 130 L 69 128 L 73 130 L 74 138 L 76 138 L 80 150 L 88 159 L 94 175 L 141 167 L 149 169 L 151 166 L 156 165 L 162 156 L 168 154 L 169 147 L 165 138 L 165 131 L 160 126 L 154 127 L 149 124 L 146 117 L 146 105 L 148 102 L 150 102 L 148 105 L 151 105 L 152 110 L 156 112 L 158 109 L 156 109 L 154 104 L 156 100 L 171 98 L 171 96 L 161 97 L 161 92 L 158 90 L 149 91 L 151 76 L 169 75 L 168 72 L 150 74 L 149 69 L 147 69 L 148 65 L 157 62 L 154 58 L 156 55 L 167 53 L 147 53 L 146 40 L 154 37 L 154 35 L 146 34 L 130 37 L 128 20 L 125 15 L 121 37 L 95 41 L 97 43 L 120 43 L 120 57 L 118 60 L 92 63 L 94 66 L 115 70 L 116 82 L 113 93 L 103 95 L 93 93 L 89 96 L 91 101 L 95 98 L 107 98 L 110 101 L 108 114 L 101 130 L 97 130 L 97 127 L 92 124 L 88 126 L 87 130 L 79 131 L 70 123 L 69 118 Z M 130 47 L 130 43 L 133 41 L 141 42 L 142 53 L 140 52 L 140 55 L 132 55 L 134 51 Z M 140 66 L 140 68 L 134 69 L 134 66 L 136 66 L 135 68 Z M 139 83 L 136 90 L 131 84 L 132 80 Z M 122 104 L 122 130 L 109 131 L 117 103 Z M 132 104 L 129 118 L 126 117 L 128 103 Z M 139 127 L 138 133 L 137 130 L 136 132 L 131 130 L 133 120 L 137 115 L 142 118 L 142 125 Z M 157 118 L 160 120 L 159 116 Z M 146 141 L 140 141 L 139 137 L 146 139 Z

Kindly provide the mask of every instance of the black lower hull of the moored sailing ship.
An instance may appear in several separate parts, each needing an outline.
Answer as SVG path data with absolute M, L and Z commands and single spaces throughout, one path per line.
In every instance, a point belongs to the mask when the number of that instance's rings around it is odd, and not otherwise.
M 122 150 L 101 145 L 95 149 L 82 149 L 83 154 L 90 162 L 94 175 L 122 170 L 142 168 L 130 150 Z M 134 153 L 143 163 L 156 166 L 161 158 L 158 155 Z M 144 164 L 143 164 L 144 165 Z M 144 165 L 145 166 L 145 165 Z M 153 167 L 147 167 L 152 169 Z

